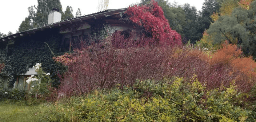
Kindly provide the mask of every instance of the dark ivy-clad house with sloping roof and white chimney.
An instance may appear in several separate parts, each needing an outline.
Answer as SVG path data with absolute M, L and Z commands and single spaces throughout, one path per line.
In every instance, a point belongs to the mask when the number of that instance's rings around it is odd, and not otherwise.
M 111 33 L 141 32 L 141 28 L 122 20 L 126 10 L 127 8 L 108 9 L 61 21 L 61 13 L 57 8 L 53 8 L 53 11 L 49 12 L 47 25 L 0 38 L 0 63 L 5 63 L 5 69 L 0 73 L 0 86 L 11 88 L 15 83 L 21 89 L 29 89 L 29 84 L 25 81 L 27 77 L 36 74 L 32 66 L 37 62 L 48 65 L 44 69 L 51 72 L 51 77 L 57 77 L 56 72 L 59 70 L 55 68 L 55 64 L 51 64 L 53 56 L 49 51 L 71 51 L 72 44 L 79 40 L 87 40 L 89 34 L 97 32 L 95 28 L 103 24 L 109 27 Z M 38 53 L 40 50 L 47 52 Z

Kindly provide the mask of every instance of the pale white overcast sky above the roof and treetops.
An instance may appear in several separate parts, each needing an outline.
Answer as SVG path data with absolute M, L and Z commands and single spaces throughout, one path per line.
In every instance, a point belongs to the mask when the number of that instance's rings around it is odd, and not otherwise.
M 173 3 L 174 0 L 168 0 Z M 201 10 L 204 0 L 176 0 L 179 4 L 189 3 L 195 6 L 197 11 Z M 140 0 L 109 0 L 109 8 L 127 8 L 132 3 L 139 3 Z M 76 15 L 78 8 L 82 15 L 97 12 L 98 0 L 60 0 L 63 12 L 69 5 L 73 8 L 73 15 Z M 37 0 L 0 0 L 0 33 L 7 34 L 9 31 L 16 33 L 25 17 L 28 17 L 28 7 L 37 6 Z

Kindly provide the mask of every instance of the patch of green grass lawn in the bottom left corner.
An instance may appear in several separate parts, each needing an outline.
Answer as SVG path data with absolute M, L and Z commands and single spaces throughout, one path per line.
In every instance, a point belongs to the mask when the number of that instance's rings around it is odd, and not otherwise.
M 0 102 L 0 122 L 37 122 L 47 106 L 26 106 L 24 102 Z

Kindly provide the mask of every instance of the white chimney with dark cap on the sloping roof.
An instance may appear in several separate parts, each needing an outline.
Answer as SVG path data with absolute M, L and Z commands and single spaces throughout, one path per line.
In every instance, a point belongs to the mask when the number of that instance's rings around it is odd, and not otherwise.
M 58 8 L 53 8 L 48 16 L 48 24 L 57 23 L 61 21 L 61 13 Z

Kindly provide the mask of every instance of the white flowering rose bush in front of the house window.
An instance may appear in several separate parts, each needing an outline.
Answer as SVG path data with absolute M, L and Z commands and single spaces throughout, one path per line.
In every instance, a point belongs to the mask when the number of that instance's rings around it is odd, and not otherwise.
M 35 68 L 36 75 L 31 75 L 27 78 L 27 83 L 31 84 L 31 93 L 37 95 L 47 95 L 49 93 L 48 87 L 50 86 L 52 80 L 50 78 L 50 73 L 45 73 L 41 67 L 41 63 L 37 63 L 33 68 Z

